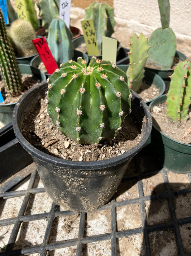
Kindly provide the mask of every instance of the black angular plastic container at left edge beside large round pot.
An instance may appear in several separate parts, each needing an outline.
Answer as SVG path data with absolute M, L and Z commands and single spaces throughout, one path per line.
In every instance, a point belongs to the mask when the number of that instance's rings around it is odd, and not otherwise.
M 33 162 L 16 139 L 12 123 L 0 129 L 0 183 Z

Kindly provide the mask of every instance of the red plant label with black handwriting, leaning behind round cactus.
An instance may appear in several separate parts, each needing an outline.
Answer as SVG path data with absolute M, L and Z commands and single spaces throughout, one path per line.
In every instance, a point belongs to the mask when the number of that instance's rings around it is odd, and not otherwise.
M 51 74 L 58 68 L 58 65 L 52 56 L 51 50 L 48 47 L 47 41 L 44 37 L 33 39 L 33 44 L 37 49 L 40 59 L 44 63 L 44 66 L 47 69 L 48 74 Z

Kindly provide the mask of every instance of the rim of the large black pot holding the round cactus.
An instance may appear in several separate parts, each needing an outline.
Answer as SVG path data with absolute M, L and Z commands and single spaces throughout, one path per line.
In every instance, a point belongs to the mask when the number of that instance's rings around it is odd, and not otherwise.
M 89 162 L 65 160 L 62 158 L 51 156 L 47 153 L 40 151 L 39 149 L 35 148 L 32 144 L 30 144 L 22 135 L 22 133 L 19 129 L 18 121 L 17 121 L 17 112 L 18 112 L 18 109 L 19 109 L 20 105 L 22 104 L 22 102 L 29 97 L 29 95 L 32 91 L 39 90 L 39 87 L 40 88 L 45 87 L 46 85 L 47 85 L 47 82 L 42 82 L 39 85 L 35 86 L 34 88 L 29 89 L 22 96 L 22 98 L 20 98 L 18 100 L 18 102 L 15 105 L 14 111 L 13 111 L 13 121 L 12 122 L 13 122 L 13 129 L 14 129 L 16 138 L 18 139 L 19 143 L 29 152 L 29 154 L 31 154 L 33 152 L 32 156 L 37 157 L 37 158 L 39 158 L 39 156 L 40 156 L 42 161 L 55 164 L 59 167 L 70 166 L 70 169 L 94 170 L 94 169 L 102 169 L 105 167 L 110 167 L 113 165 L 118 165 L 118 164 L 125 162 L 126 160 L 129 160 L 130 158 L 133 158 L 135 156 L 135 154 L 137 154 L 140 151 L 140 149 L 143 148 L 144 144 L 147 142 L 149 135 L 151 134 L 151 130 L 152 130 L 151 112 L 149 111 L 148 106 L 144 102 L 144 100 L 142 98 L 140 98 L 137 93 L 135 93 L 134 91 L 131 90 L 131 92 L 133 94 L 132 99 L 138 98 L 138 100 L 140 102 L 139 106 L 143 107 L 143 109 L 144 109 L 145 120 L 146 120 L 146 124 L 147 124 L 147 126 L 146 126 L 147 129 L 145 130 L 144 136 L 142 137 L 140 142 L 134 148 L 121 154 L 120 156 L 116 156 L 116 157 L 104 159 L 104 160 L 99 160 L 99 161 L 89 161 Z

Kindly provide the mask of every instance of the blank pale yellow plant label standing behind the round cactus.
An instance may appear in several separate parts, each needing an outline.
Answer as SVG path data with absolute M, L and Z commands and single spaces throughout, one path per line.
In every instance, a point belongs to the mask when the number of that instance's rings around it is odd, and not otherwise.
M 116 64 L 117 44 L 118 41 L 116 39 L 106 36 L 102 37 L 102 60 L 109 60 Z

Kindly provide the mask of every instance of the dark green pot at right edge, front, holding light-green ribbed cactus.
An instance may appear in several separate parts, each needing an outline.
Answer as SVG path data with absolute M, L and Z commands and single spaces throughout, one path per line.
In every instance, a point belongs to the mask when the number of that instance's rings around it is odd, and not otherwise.
M 166 94 L 149 104 L 149 109 L 166 102 Z M 171 139 L 162 133 L 153 123 L 151 145 L 161 166 L 172 172 L 191 172 L 191 144 L 185 144 Z

